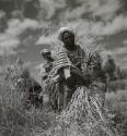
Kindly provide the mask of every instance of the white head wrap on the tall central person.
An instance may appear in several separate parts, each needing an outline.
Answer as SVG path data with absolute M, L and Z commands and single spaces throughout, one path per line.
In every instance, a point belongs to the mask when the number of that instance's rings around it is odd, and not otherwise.
M 68 32 L 68 33 L 70 33 L 71 35 L 73 35 L 74 36 L 74 33 L 73 33 L 73 30 L 71 29 L 71 28 L 68 28 L 68 27 L 61 27 L 60 29 L 59 29 L 59 32 L 58 32 L 58 39 L 59 40 L 61 40 L 61 41 L 64 41 L 64 33 L 66 33 L 66 32 Z

